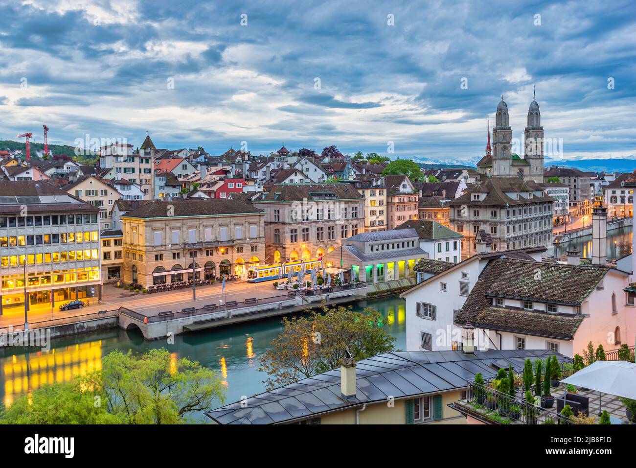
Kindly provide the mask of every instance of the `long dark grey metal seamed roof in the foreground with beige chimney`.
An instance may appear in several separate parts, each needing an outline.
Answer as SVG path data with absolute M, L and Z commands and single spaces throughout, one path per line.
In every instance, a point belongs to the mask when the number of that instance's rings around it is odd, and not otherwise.
M 462 351 L 393 351 L 356 363 L 356 397 L 344 399 L 340 369 L 317 374 L 263 392 L 242 402 L 208 411 L 205 415 L 219 424 L 272 424 L 311 418 L 322 413 L 375 402 L 387 397 L 412 398 L 439 394 L 466 386 L 477 372 L 486 378 L 497 366 L 523 369 L 526 358 L 545 358 L 548 350 L 488 350 L 473 355 Z M 558 360 L 567 358 L 558 355 Z M 496 364 L 495 364 L 496 363 Z M 244 406 L 244 405 L 243 405 Z

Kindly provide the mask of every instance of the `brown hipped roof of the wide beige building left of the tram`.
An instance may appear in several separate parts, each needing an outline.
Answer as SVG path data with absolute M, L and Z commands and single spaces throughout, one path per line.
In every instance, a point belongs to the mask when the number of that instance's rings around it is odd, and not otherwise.
M 126 216 L 134 218 L 165 218 L 169 206 L 174 209 L 173 216 L 218 216 L 263 213 L 252 204 L 234 199 L 174 199 L 170 201 L 151 200 L 137 209 L 132 209 Z

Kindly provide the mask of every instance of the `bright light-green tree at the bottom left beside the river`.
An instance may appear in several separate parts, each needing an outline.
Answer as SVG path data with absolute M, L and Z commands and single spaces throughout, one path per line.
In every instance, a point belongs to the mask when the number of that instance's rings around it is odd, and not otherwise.
M 71 383 L 46 385 L 24 395 L 0 422 L 32 424 L 176 424 L 190 413 L 225 401 L 216 372 L 165 348 L 134 356 L 119 350 L 102 358 L 102 368 Z

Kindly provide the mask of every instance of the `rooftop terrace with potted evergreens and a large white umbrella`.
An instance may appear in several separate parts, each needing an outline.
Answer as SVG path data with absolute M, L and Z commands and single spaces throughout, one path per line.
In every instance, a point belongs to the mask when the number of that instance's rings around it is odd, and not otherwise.
M 550 374 L 548 383 L 545 374 L 541 378 L 542 365 L 528 360 L 523 371 L 499 369 L 496 376 L 488 378 L 477 374 L 474 381 L 468 383 L 466 399 L 453 406 L 467 415 L 495 424 L 634 423 L 636 387 L 625 386 L 630 385 L 625 376 L 636 376 L 635 364 L 599 361 L 575 371 L 571 361 L 550 361 L 551 370 L 546 372 Z M 555 372 L 555 368 L 558 371 Z M 618 372 L 622 379 L 607 378 Z M 585 378 L 586 375 L 591 378 Z M 585 382 L 586 387 L 572 385 L 570 381 Z

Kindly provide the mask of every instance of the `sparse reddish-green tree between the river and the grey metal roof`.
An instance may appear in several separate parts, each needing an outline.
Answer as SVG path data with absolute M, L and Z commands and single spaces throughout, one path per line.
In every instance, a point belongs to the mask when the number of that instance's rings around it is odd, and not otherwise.
M 349 350 L 361 360 L 395 349 L 396 339 L 382 327 L 382 315 L 322 304 L 322 313 L 308 310 L 305 316 L 284 318 L 284 330 L 272 340 L 259 360 L 259 371 L 268 390 L 335 369 Z

